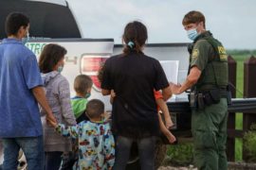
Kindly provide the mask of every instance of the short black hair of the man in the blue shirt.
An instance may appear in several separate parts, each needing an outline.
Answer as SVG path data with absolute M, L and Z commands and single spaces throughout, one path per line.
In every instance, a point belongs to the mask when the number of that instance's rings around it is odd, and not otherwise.
M 6 34 L 17 35 L 21 26 L 27 27 L 29 24 L 28 17 L 21 12 L 9 13 L 6 19 Z

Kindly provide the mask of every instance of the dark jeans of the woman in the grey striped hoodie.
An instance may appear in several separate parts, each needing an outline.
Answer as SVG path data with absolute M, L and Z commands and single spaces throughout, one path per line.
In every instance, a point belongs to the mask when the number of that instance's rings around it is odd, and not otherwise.
M 59 170 L 62 163 L 63 152 L 45 152 L 46 153 L 46 164 L 45 170 Z

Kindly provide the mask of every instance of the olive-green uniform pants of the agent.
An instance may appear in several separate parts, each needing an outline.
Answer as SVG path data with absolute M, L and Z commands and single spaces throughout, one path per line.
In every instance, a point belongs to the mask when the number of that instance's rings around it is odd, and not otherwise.
M 192 111 L 194 161 L 198 170 L 227 170 L 227 99 Z

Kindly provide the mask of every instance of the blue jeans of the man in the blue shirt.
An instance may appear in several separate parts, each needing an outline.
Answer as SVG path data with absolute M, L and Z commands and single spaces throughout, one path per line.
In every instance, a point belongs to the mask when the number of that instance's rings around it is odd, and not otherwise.
M 44 167 L 44 141 L 43 136 L 4 138 L 3 170 L 17 169 L 20 148 L 27 159 L 28 170 L 43 170 Z

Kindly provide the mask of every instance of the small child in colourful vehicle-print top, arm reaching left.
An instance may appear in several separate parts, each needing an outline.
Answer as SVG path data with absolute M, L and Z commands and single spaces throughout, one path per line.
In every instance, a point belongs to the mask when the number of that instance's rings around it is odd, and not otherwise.
M 104 104 L 101 100 L 92 99 L 86 107 L 86 116 L 77 126 L 64 127 L 48 120 L 56 131 L 65 137 L 79 140 L 79 160 L 73 169 L 112 169 L 115 161 L 115 142 L 110 125 L 102 121 Z

